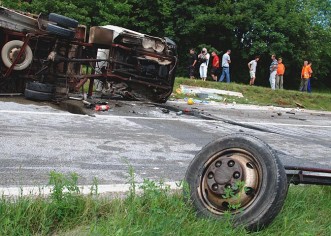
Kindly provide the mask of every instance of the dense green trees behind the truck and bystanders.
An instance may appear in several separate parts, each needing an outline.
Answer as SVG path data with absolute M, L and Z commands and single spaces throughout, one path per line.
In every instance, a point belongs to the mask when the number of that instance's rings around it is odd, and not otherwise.
M 270 55 L 286 65 L 285 88 L 296 88 L 303 60 L 331 88 L 329 0 L 2 0 L 33 13 L 56 12 L 88 26 L 113 24 L 168 36 L 179 46 L 179 74 L 186 75 L 189 48 L 232 49 L 235 82 L 249 81 L 247 63 L 260 55 L 256 83 L 268 85 Z

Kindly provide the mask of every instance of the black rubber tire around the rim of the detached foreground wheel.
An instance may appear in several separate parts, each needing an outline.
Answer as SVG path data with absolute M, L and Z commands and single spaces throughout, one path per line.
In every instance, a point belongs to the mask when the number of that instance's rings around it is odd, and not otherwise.
M 288 184 L 285 169 L 274 150 L 254 136 L 242 133 L 232 134 L 207 144 L 194 157 L 187 169 L 185 180 L 188 188 L 184 188 L 184 196 L 193 204 L 198 215 L 225 219 L 224 214 L 216 214 L 211 210 L 212 208 L 206 207 L 207 201 L 200 193 L 207 190 L 199 189 L 203 186 L 202 179 L 207 173 L 205 170 L 208 163 L 211 163 L 211 157 L 232 149 L 241 149 L 254 156 L 254 160 L 262 170 L 259 177 L 261 181 L 259 190 L 254 194 L 250 204 L 241 211 L 231 214 L 234 226 L 243 225 L 249 231 L 258 231 L 270 224 L 282 209 Z

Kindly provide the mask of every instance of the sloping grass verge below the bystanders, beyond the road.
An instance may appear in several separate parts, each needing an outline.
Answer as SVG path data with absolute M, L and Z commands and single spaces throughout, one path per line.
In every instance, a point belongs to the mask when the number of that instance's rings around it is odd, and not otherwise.
M 215 88 L 241 92 L 244 97 L 222 96 L 227 103 L 252 104 L 263 106 L 297 107 L 297 103 L 305 109 L 331 111 L 331 93 L 313 92 L 303 93 L 294 90 L 271 90 L 260 86 L 249 86 L 237 83 L 217 83 L 212 81 L 192 80 L 188 78 L 176 78 L 174 85 L 174 98 L 194 97 L 178 94 L 176 90 L 179 85 L 190 85 L 205 88 Z M 223 100 L 223 101 L 224 101 Z

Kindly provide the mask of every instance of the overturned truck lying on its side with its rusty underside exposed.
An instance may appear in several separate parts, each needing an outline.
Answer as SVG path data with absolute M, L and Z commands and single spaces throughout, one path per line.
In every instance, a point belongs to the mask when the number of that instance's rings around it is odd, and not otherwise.
M 0 7 L 0 93 L 61 101 L 89 83 L 110 97 L 165 102 L 172 93 L 177 46 L 169 38 L 122 27 L 89 30 L 74 19 Z

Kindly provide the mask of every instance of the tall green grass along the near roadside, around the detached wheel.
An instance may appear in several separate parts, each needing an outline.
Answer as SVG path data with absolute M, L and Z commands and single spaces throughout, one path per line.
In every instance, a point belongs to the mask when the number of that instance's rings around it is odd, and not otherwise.
M 76 174 L 52 172 L 49 197 L 0 199 L 0 235 L 247 235 L 229 220 L 196 217 L 181 191 L 132 178 L 125 197 L 102 197 L 97 184 L 82 195 Z M 329 235 L 331 188 L 291 186 L 274 222 L 251 235 Z M 227 219 L 227 218 L 225 218 Z

